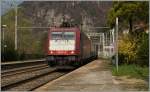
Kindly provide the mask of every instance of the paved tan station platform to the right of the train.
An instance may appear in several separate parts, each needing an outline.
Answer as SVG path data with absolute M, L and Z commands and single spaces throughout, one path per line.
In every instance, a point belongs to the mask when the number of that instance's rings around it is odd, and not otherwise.
M 114 84 L 111 65 L 107 60 L 95 60 L 34 91 L 49 92 L 120 92 Z

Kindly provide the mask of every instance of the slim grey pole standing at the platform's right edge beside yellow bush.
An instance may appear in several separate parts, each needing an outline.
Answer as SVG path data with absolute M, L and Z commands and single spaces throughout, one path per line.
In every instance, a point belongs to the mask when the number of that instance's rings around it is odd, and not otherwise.
M 118 72 L 118 17 L 116 18 L 116 68 Z

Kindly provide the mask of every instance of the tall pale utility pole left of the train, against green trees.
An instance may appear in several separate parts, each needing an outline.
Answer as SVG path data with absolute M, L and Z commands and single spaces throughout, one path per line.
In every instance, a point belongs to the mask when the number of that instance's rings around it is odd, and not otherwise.
M 18 7 L 17 7 L 17 4 L 15 4 L 15 50 L 18 49 L 17 47 L 17 21 L 18 21 L 17 13 L 18 13 Z

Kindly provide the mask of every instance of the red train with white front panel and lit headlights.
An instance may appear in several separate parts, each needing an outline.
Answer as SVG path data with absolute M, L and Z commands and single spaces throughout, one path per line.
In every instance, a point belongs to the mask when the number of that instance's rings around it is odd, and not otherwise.
M 47 41 L 49 66 L 79 66 L 97 58 L 97 48 L 78 27 L 50 28 Z

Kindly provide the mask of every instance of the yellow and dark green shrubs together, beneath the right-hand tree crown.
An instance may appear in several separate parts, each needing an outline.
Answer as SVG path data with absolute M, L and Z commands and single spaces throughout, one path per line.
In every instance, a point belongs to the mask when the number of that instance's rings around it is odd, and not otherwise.
M 126 34 L 119 40 L 119 62 L 120 64 L 149 65 L 149 39 L 145 32 L 137 37 Z

